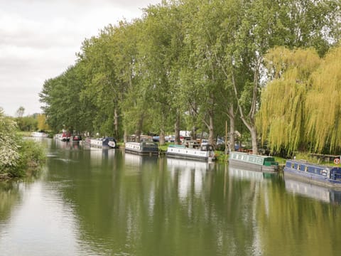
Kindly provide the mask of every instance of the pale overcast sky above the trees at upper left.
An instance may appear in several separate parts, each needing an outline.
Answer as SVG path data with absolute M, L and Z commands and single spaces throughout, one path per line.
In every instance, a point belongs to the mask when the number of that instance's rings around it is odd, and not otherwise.
M 161 0 L 0 0 L 0 107 L 40 113 L 43 82 L 76 60 L 85 38 Z

